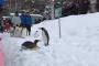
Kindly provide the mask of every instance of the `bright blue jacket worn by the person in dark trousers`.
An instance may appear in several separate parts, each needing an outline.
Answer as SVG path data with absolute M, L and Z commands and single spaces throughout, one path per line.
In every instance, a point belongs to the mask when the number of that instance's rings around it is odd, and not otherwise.
M 30 15 L 22 14 L 20 18 L 23 25 L 32 25 L 32 18 Z

